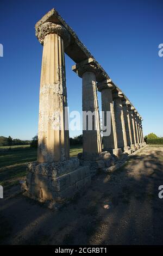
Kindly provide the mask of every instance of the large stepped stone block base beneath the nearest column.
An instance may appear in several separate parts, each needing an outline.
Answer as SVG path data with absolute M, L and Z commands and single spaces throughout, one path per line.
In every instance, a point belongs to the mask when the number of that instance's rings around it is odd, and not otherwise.
M 25 195 L 39 202 L 64 202 L 91 184 L 89 166 L 79 166 L 75 157 L 64 162 L 32 162 L 27 170 Z

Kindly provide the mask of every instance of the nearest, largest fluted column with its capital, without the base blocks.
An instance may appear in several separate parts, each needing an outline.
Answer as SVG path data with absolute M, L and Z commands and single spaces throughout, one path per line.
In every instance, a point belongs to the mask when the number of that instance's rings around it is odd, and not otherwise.
M 65 130 L 67 92 L 64 47 L 70 35 L 61 25 L 43 23 L 36 33 L 43 45 L 39 103 L 39 162 L 69 158 L 69 133 Z

